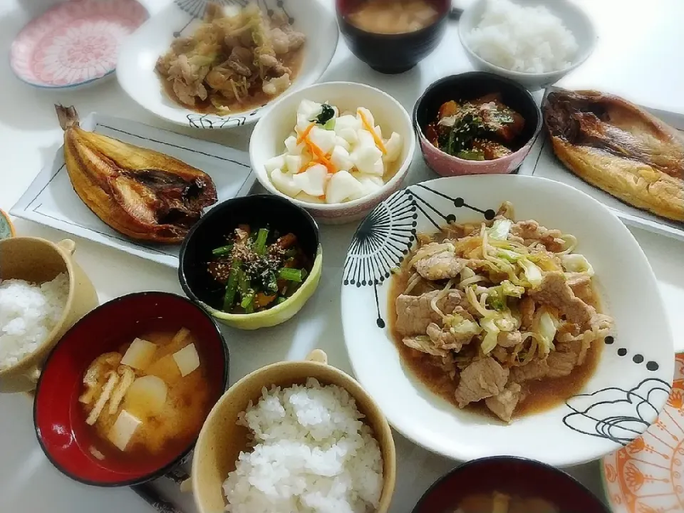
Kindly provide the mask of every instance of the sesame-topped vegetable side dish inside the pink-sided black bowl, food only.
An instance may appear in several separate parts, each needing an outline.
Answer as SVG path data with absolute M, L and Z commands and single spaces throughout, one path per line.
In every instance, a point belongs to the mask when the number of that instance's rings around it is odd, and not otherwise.
M 477 100 L 443 103 L 425 129 L 430 143 L 465 160 L 496 160 L 517 150 L 514 141 L 525 120 L 502 103 L 498 94 Z

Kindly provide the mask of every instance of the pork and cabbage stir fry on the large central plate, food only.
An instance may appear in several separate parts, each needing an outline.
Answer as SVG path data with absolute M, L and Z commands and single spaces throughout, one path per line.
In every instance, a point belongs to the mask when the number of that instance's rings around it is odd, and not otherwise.
M 613 320 L 596 310 L 594 269 L 576 239 L 536 221 L 492 222 L 419 234 L 399 276 L 395 333 L 455 383 L 460 408 L 484 400 L 510 421 L 526 382 L 581 366 Z

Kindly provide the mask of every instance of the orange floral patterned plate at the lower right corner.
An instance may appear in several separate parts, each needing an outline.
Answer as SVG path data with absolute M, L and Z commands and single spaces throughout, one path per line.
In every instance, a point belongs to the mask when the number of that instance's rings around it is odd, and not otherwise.
M 614 513 L 684 512 L 684 353 L 668 403 L 643 436 L 603 458 Z

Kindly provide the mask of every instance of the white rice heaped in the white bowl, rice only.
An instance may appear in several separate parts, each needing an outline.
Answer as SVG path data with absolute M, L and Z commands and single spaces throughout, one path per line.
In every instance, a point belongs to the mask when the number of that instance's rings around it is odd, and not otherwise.
M 467 35 L 473 52 L 511 71 L 549 73 L 571 66 L 578 46 L 572 32 L 544 6 L 487 0 L 482 20 Z

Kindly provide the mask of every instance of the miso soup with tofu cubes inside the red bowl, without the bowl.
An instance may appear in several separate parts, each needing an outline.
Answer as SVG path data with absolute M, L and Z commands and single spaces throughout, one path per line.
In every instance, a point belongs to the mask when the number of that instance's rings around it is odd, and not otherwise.
M 147 331 L 90 363 L 79 403 L 93 457 L 162 467 L 190 445 L 220 393 L 196 342 L 185 328 Z

